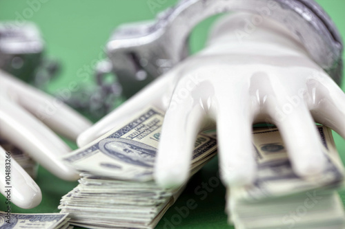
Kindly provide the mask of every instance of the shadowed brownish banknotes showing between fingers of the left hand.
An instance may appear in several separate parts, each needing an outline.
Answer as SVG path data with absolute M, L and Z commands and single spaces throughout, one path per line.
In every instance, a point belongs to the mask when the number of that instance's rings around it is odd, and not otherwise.
M 30 177 L 37 177 L 38 164 L 32 160 L 28 153 L 21 151 L 21 149 L 17 148 L 3 138 L 0 138 L 0 146 L 3 147 L 5 151 L 11 152 L 12 159 L 18 162 L 21 168 L 23 168 L 26 173 L 30 175 Z

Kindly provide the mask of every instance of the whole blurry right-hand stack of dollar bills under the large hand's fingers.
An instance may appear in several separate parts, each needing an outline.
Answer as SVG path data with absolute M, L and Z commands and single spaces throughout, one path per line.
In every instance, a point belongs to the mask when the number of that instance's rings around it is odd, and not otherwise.
M 308 178 L 294 173 L 277 129 L 254 131 L 255 182 L 228 188 L 226 210 L 235 228 L 345 228 L 342 201 L 335 192 L 343 186 L 344 169 L 331 130 L 322 126 L 317 130 L 326 168 Z

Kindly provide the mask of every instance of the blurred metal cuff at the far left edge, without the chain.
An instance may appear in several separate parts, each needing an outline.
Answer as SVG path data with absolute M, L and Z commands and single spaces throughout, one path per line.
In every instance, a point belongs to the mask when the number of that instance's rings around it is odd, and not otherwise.
M 44 55 L 44 47 L 34 23 L 0 23 L 0 69 L 40 89 L 59 70 L 59 63 Z

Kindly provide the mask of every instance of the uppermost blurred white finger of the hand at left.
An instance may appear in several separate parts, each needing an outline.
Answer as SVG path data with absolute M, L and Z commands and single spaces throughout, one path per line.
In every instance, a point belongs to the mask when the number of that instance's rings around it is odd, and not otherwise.
M 90 121 L 57 98 L 26 85 L 6 72 L 0 72 L 0 83 L 3 97 L 17 103 L 66 138 L 76 140 L 79 133 L 91 125 Z

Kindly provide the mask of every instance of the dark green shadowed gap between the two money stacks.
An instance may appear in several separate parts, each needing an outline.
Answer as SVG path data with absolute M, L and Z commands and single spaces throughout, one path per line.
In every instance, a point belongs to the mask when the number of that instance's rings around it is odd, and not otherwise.
M 215 157 L 190 179 L 184 193 L 156 228 L 233 228 L 227 225 L 226 188 L 217 171 L 218 159 Z

